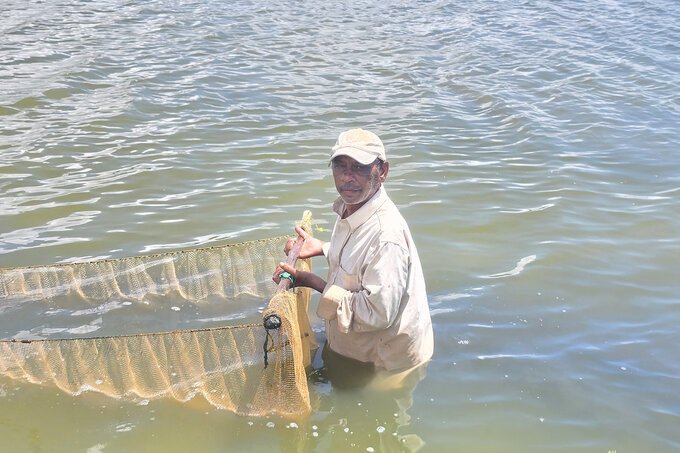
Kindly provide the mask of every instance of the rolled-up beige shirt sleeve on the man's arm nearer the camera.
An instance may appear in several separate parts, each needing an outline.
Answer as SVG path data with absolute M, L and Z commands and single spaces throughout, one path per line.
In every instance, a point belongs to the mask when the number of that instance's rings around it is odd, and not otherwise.
M 337 319 L 343 333 L 371 332 L 392 325 L 406 292 L 408 251 L 393 242 L 382 243 L 360 272 L 358 290 L 333 283 L 319 302 L 318 315 L 326 320 Z

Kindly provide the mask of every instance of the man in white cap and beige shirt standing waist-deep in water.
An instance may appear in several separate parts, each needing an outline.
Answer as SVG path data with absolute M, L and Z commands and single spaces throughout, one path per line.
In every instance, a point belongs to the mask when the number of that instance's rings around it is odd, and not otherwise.
M 416 246 L 383 188 L 389 170 L 385 147 L 363 129 L 343 132 L 332 149 L 331 168 L 340 197 L 333 204 L 338 218 L 330 242 L 296 228 L 305 239 L 300 258 L 325 255 L 327 280 L 280 263 L 274 281 L 287 272 L 295 285 L 322 294 L 317 314 L 326 322 L 323 357 L 329 372 L 352 369 L 345 376 L 351 378 L 410 370 L 432 356 L 432 322 Z

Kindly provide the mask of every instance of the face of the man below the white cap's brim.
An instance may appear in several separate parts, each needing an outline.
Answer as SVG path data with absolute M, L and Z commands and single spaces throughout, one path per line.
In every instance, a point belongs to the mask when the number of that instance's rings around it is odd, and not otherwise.
M 387 176 L 387 162 L 374 161 L 362 165 L 349 156 L 338 156 L 331 162 L 335 188 L 347 205 L 363 205 L 380 188 Z M 357 207 L 357 208 L 358 208 Z

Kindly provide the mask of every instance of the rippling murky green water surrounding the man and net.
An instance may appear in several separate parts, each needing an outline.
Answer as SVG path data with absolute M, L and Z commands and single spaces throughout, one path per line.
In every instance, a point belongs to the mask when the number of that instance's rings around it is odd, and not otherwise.
M 677 2 L 0 13 L 1 267 L 269 237 L 304 209 L 329 228 L 330 146 L 362 126 L 436 341 L 408 409 L 312 381 L 297 425 L 2 380 L 0 450 L 680 449 Z

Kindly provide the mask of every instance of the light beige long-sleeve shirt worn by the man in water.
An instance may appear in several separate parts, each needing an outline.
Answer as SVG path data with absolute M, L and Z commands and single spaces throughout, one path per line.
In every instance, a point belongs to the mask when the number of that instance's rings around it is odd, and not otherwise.
M 325 244 L 328 279 L 317 314 L 331 349 L 378 369 L 401 370 L 432 357 L 425 279 L 406 221 L 385 189 L 345 219 Z

